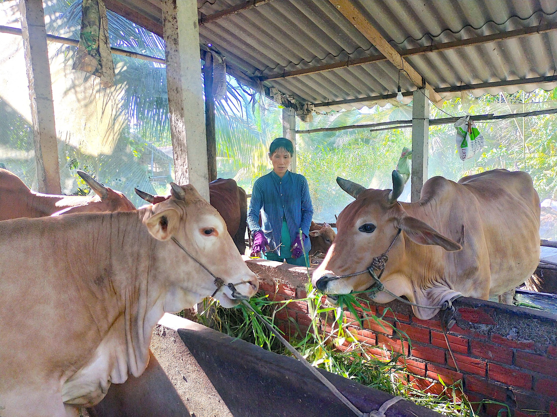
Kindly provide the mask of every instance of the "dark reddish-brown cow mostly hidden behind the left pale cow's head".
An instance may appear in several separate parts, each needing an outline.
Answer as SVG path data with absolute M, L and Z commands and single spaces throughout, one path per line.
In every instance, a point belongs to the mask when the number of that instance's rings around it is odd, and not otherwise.
M 153 196 L 135 188 L 143 200 L 150 203 L 164 201 L 168 196 Z M 246 252 L 247 194 L 232 178 L 218 178 L 209 182 L 209 199 L 224 219 L 228 233 L 240 254 Z

